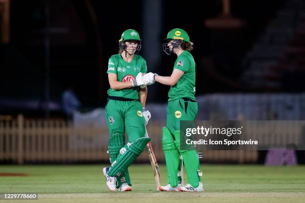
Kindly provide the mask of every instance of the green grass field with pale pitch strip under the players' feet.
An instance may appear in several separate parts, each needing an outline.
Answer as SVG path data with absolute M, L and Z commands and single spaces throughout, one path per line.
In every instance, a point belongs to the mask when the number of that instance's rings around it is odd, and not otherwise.
M 305 166 L 201 165 L 203 193 L 157 192 L 149 164 L 130 167 L 132 192 L 110 192 L 102 176 L 103 165 L 0 165 L 0 193 L 38 193 L 38 201 L 26 202 L 207 202 L 207 203 L 304 203 Z M 160 166 L 161 182 L 167 183 Z M 184 180 L 186 182 L 186 180 Z M 1 201 L 5 202 L 5 201 Z M 19 201 L 6 201 L 9 203 Z

